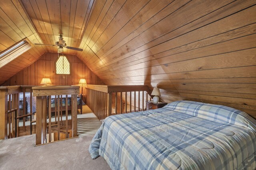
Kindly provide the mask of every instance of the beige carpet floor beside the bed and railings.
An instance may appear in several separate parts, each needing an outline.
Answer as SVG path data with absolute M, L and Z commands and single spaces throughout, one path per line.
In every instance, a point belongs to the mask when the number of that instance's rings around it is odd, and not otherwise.
M 38 147 L 34 147 L 35 135 L 2 140 L 0 170 L 110 170 L 101 156 L 92 160 L 88 151 L 100 125 L 97 117 L 85 109 L 78 115 L 78 138 Z

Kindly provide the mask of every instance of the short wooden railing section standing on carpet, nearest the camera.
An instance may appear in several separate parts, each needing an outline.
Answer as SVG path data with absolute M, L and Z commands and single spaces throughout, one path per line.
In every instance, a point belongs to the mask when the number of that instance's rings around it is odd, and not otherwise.
M 52 139 L 52 133 L 57 133 L 57 140 L 60 140 L 60 134 L 64 133 L 66 138 L 69 133 L 72 137 L 77 136 L 77 94 L 79 86 L 36 86 L 32 87 L 33 96 L 36 96 L 36 145 L 56 141 Z M 71 94 L 71 120 L 68 120 L 68 95 Z M 52 122 L 51 96 L 56 96 L 57 116 Z M 62 96 L 65 96 L 65 115 L 66 120 L 62 120 Z M 48 115 L 47 115 L 48 113 Z M 48 118 L 47 118 L 48 116 Z M 56 120 L 57 119 L 57 120 Z M 48 120 L 48 122 L 47 122 Z

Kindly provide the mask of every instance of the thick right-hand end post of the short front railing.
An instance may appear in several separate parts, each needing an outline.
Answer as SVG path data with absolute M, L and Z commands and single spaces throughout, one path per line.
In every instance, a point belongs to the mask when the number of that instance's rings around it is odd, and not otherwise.
M 72 137 L 77 136 L 77 95 L 72 94 Z

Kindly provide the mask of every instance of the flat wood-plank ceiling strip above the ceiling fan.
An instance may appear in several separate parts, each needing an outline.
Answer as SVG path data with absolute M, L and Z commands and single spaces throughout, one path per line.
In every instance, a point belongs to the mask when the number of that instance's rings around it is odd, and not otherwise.
M 79 47 L 94 0 L 22 0 L 44 44 L 55 45 L 63 35 L 67 46 Z M 50 52 L 57 47 L 46 46 Z M 76 51 L 64 48 L 64 53 Z

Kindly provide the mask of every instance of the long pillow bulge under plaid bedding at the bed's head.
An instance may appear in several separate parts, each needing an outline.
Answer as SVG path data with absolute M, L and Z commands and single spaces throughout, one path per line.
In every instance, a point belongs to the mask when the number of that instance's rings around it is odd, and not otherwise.
M 210 121 L 219 121 L 242 127 L 250 127 L 250 129 L 256 131 L 256 120 L 250 117 L 247 113 L 231 107 L 186 100 L 172 102 L 165 107 Z

